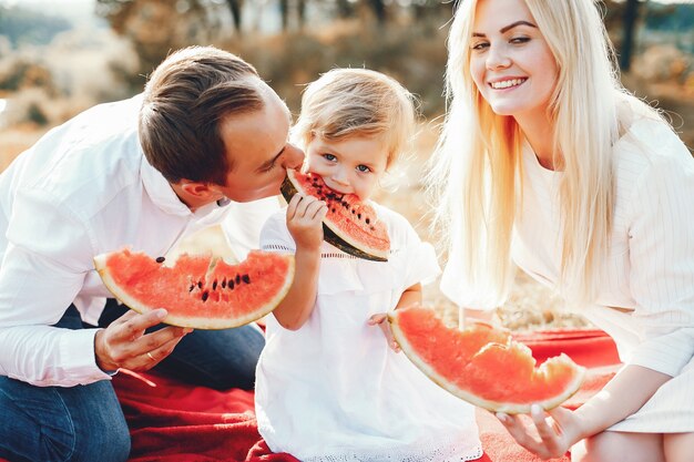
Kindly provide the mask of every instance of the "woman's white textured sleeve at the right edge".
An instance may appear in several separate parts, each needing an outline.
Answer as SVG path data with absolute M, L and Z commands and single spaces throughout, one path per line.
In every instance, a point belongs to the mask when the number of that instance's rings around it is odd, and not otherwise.
M 694 160 L 685 154 L 655 157 L 631 203 L 629 280 L 641 343 L 629 363 L 670 376 L 694 356 Z

